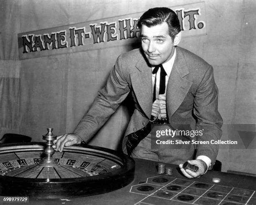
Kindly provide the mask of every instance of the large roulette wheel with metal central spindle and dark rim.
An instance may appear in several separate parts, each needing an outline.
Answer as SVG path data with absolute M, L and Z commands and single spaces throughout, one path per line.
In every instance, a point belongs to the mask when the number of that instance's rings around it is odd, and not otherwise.
M 51 128 L 43 142 L 0 145 L 0 195 L 83 197 L 110 192 L 134 179 L 127 155 L 102 147 L 66 147 L 55 152 Z

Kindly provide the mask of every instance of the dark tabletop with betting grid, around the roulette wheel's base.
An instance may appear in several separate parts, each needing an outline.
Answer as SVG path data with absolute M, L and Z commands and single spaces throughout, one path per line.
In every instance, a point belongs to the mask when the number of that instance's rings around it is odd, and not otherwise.
M 124 187 L 110 191 L 112 183 L 108 183 L 106 187 L 109 192 L 106 193 L 89 196 L 77 194 L 76 197 L 66 195 L 54 199 L 29 197 L 27 204 L 256 205 L 256 177 L 208 170 L 200 178 L 187 179 L 179 172 L 178 165 L 169 164 L 174 168 L 173 175 L 165 175 L 157 173 L 158 162 L 144 159 L 134 159 L 134 161 L 134 179 Z M 213 177 L 218 177 L 221 181 L 212 182 Z M 89 185 L 84 183 L 84 187 L 87 186 Z M 12 188 L 9 190 L 10 194 L 11 190 Z

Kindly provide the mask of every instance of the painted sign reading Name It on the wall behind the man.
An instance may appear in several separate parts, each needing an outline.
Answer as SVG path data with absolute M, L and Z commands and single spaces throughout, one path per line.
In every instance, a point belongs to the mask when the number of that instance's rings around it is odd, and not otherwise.
M 204 2 L 171 9 L 178 15 L 183 37 L 206 35 Z M 140 43 L 137 24 L 142 14 L 133 13 L 19 33 L 20 60 Z

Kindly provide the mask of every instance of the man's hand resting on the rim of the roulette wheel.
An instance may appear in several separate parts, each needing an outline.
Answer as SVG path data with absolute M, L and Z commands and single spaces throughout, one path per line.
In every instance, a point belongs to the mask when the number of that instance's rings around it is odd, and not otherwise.
M 83 140 L 77 134 L 63 134 L 57 137 L 54 140 L 54 144 L 56 144 L 56 151 L 63 152 L 64 147 L 69 147 L 73 144 L 81 144 Z

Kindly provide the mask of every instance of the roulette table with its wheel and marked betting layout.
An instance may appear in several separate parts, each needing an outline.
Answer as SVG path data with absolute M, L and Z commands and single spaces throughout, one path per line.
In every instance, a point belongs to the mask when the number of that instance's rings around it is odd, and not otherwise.
M 47 146 L 0 146 L 1 199 L 28 196 L 27 204 L 33 205 L 256 204 L 256 177 L 208 170 L 200 178 L 188 179 L 172 164 L 166 165 L 173 168 L 173 175 L 158 174 L 158 162 L 85 145 L 51 153 L 56 165 L 40 165 L 47 161 L 42 159 Z

